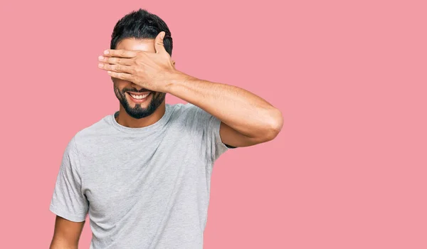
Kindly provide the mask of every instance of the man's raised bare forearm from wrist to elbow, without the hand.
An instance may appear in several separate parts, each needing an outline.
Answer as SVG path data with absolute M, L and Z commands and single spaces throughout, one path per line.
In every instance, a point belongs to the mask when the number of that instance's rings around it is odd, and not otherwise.
M 181 72 L 172 78 L 167 92 L 209 112 L 247 137 L 275 137 L 283 126 L 281 112 L 247 90 Z

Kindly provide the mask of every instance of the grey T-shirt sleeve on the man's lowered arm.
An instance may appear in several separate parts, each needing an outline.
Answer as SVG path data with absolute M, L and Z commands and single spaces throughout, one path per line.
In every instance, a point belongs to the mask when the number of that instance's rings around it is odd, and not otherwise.
M 69 221 L 85 221 L 88 200 L 82 192 L 82 176 L 75 137 L 70 140 L 63 154 L 50 210 Z

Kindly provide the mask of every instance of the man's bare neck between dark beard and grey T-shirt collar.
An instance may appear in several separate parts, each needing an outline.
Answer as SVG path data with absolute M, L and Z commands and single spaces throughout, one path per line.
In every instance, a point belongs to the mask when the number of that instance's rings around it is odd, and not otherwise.
M 152 115 L 149 115 L 148 117 L 142 117 L 140 119 L 135 119 L 133 117 L 130 117 L 130 115 L 128 115 L 125 111 L 125 108 L 120 105 L 119 115 L 115 118 L 115 120 L 117 121 L 117 123 L 125 127 L 142 128 L 159 121 L 163 117 L 164 112 L 166 112 L 166 105 L 163 101 L 162 105 L 160 105 L 157 110 L 152 113 Z

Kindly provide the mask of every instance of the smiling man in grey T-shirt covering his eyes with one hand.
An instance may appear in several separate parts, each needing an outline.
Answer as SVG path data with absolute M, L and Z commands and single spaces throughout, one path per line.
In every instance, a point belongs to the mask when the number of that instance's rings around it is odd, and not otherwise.
M 281 112 L 251 92 L 174 67 L 161 18 L 139 9 L 117 22 L 99 58 L 120 110 L 68 143 L 50 210 L 51 248 L 203 248 L 211 172 L 231 147 L 274 139 Z M 165 104 L 169 93 L 187 104 Z

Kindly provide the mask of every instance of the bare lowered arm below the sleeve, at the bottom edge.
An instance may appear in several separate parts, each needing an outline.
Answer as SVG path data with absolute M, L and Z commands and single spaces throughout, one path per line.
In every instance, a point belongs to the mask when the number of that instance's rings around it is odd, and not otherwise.
M 56 216 L 55 231 L 49 249 L 77 249 L 85 221 L 73 222 Z

